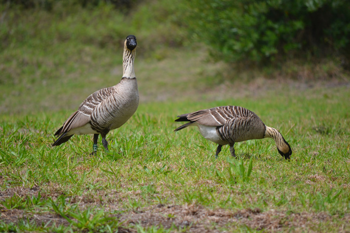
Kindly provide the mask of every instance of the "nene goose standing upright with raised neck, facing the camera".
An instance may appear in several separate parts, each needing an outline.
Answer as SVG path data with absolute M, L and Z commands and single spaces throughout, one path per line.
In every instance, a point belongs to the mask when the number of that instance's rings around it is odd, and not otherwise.
M 138 89 L 134 72 L 136 37 L 130 35 L 124 42 L 123 77 L 112 87 L 103 88 L 86 98 L 78 110 L 56 131 L 59 137 L 52 146 L 67 142 L 73 135 L 94 134 L 93 153 L 97 151 L 97 140 L 102 136 L 102 145 L 108 150 L 106 135 L 122 126 L 138 107 Z

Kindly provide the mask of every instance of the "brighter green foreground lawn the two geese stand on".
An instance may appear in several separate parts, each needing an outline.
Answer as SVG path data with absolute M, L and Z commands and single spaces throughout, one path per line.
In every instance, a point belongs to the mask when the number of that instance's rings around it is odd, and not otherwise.
M 278 219 L 283 231 L 349 230 L 349 100 L 348 88 L 339 87 L 272 91 L 258 101 L 141 104 L 107 136 L 110 151 L 100 143 L 96 156 L 89 155 L 91 136 L 50 147 L 53 132 L 69 112 L 2 116 L 5 217 L 0 229 L 163 232 L 197 226 L 270 231 Z M 173 122 L 178 114 L 230 104 L 245 106 L 278 128 L 293 148 L 291 160 L 285 161 L 269 139 L 237 143 L 236 159 L 224 147 L 216 160 L 216 145 L 196 128 L 172 131 L 179 126 Z M 182 210 L 169 212 L 173 206 Z M 201 212 L 192 215 L 190 208 L 224 217 L 206 222 L 192 217 Z M 216 215 L 221 212 L 226 215 Z M 147 223 L 138 221 L 147 214 Z M 181 224 L 187 215 L 189 223 Z M 258 226 L 257 216 L 271 224 Z M 298 221 L 305 221 L 305 228 Z

